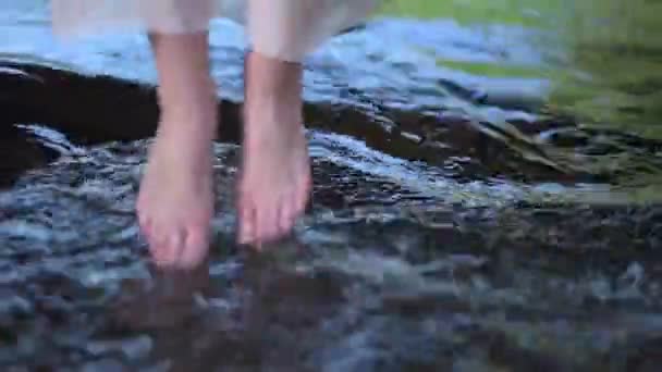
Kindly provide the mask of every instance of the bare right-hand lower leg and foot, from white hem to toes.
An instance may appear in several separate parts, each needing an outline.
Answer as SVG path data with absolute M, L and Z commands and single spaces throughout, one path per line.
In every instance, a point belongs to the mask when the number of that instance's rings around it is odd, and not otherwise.
M 301 65 L 252 52 L 247 59 L 238 241 L 290 233 L 305 210 L 311 177 L 301 97 Z

